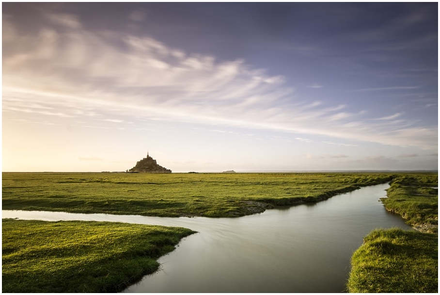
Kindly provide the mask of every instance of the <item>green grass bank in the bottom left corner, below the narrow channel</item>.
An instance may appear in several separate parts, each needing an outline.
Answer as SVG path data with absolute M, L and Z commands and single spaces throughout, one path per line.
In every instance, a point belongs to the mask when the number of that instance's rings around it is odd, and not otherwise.
M 194 231 L 110 222 L 2 219 L 3 293 L 118 292 Z

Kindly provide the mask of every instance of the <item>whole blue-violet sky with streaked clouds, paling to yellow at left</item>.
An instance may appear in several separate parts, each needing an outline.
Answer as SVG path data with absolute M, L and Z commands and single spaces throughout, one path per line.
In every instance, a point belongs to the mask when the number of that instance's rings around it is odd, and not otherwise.
M 2 171 L 438 169 L 438 2 L 2 2 Z

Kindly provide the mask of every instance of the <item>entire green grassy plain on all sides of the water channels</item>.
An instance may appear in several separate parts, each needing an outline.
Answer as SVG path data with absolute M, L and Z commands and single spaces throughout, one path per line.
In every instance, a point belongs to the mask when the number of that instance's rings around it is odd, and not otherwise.
M 386 182 L 387 210 L 432 233 L 371 232 L 353 255 L 348 291 L 437 292 L 437 173 L 2 173 L 2 209 L 236 217 Z M 156 259 L 191 233 L 3 219 L 2 291 L 120 291 L 155 271 Z

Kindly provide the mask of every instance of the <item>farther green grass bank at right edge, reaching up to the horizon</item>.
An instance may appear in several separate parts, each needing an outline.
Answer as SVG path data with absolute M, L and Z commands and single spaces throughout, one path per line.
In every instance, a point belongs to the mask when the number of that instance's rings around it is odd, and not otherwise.
M 402 215 L 407 223 L 427 232 L 437 232 L 438 174 L 400 175 L 393 179 L 382 198 L 385 208 Z

